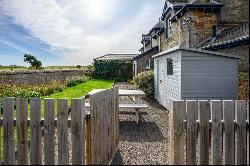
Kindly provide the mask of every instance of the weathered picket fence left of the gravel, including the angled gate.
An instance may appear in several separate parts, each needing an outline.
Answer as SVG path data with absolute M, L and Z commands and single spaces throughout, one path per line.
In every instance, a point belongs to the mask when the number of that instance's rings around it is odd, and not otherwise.
M 1 164 L 109 164 L 119 139 L 118 88 L 89 97 L 90 110 L 85 108 L 85 97 L 71 100 L 70 117 L 67 99 L 44 99 L 44 119 L 40 98 L 32 98 L 30 103 L 23 98 L 4 98 L 0 123 L 0 133 L 3 128 Z

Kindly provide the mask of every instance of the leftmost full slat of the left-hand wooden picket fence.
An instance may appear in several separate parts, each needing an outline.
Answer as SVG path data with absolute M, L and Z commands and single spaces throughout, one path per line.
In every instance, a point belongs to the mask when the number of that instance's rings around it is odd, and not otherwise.
M 4 165 L 15 164 L 13 111 L 14 98 L 5 98 L 3 100 Z

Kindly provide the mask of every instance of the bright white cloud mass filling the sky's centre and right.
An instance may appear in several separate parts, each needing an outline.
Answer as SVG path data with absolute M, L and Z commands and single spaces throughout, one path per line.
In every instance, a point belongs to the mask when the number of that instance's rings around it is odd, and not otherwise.
M 88 64 L 106 53 L 139 50 L 141 34 L 154 26 L 164 0 L 131 2 L 140 8 L 123 9 L 124 0 L 2 0 L 0 10 L 52 51 L 63 50 L 60 62 Z M 119 14 L 132 16 L 121 22 Z

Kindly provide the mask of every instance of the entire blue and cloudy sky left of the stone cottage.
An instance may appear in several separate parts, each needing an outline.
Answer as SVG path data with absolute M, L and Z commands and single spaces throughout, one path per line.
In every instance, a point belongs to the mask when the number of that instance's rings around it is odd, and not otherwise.
M 139 53 L 141 34 L 165 0 L 0 0 L 0 65 L 88 65 L 108 53 Z

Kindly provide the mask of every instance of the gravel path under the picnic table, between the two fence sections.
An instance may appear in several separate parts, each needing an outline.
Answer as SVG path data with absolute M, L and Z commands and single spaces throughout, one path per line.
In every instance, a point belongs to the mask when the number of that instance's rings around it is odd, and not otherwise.
M 117 85 L 122 89 L 134 89 L 124 83 Z M 131 102 L 126 97 L 120 101 Z M 140 111 L 138 125 L 133 110 L 121 110 L 119 149 L 112 165 L 167 164 L 168 111 L 149 98 L 143 98 L 143 102 L 149 108 Z

